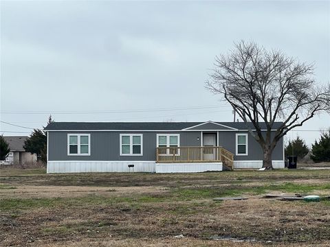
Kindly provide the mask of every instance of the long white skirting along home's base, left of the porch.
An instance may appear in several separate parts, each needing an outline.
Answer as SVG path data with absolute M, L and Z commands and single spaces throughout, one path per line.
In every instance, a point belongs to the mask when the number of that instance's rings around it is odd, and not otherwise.
M 134 165 L 130 168 L 129 165 Z M 47 173 L 155 172 L 155 161 L 48 161 Z

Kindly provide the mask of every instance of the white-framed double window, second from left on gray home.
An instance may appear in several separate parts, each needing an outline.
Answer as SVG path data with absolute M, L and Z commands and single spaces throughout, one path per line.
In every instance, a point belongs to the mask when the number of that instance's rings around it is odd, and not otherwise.
M 120 134 L 120 155 L 143 155 L 142 134 Z

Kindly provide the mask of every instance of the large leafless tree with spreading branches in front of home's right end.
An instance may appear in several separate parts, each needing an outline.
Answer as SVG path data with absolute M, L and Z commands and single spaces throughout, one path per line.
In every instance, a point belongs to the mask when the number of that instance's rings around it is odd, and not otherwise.
M 263 149 L 263 167 L 272 169 L 272 152 L 289 130 L 321 111 L 330 112 L 330 84 L 319 86 L 314 65 L 278 50 L 241 41 L 230 54 L 217 56 L 206 87 L 230 103 Z M 281 124 L 274 130 L 274 123 Z M 265 122 L 266 131 L 261 131 Z M 251 125 L 247 125 L 251 126 Z

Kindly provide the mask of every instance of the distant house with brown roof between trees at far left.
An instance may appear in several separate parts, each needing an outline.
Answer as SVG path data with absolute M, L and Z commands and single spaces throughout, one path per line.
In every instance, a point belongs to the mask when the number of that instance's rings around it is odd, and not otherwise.
M 10 165 L 25 165 L 36 163 L 36 154 L 25 152 L 24 141 L 29 137 L 3 137 L 9 143 L 10 152 L 5 157 L 5 163 Z

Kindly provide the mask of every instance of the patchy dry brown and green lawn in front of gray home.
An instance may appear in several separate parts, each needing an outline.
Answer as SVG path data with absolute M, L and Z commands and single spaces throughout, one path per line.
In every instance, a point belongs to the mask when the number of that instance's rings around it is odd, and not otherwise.
M 0 173 L 1 246 L 330 246 L 329 200 L 262 198 L 330 196 L 330 170 Z

